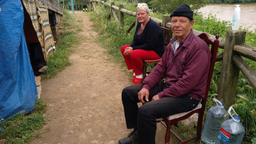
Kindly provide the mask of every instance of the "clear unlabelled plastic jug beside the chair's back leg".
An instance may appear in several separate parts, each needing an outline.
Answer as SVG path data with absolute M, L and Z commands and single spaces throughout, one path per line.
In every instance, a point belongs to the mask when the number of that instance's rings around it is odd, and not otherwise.
M 220 124 L 225 121 L 226 117 L 224 116 L 227 114 L 227 110 L 224 108 L 223 103 L 215 98 L 213 100 L 217 103 L 217 105 L 211 107 L 207 111 L 201 137 L 202 141 L 207 144 L 215 143 L 215 140 L 220 132 Z

